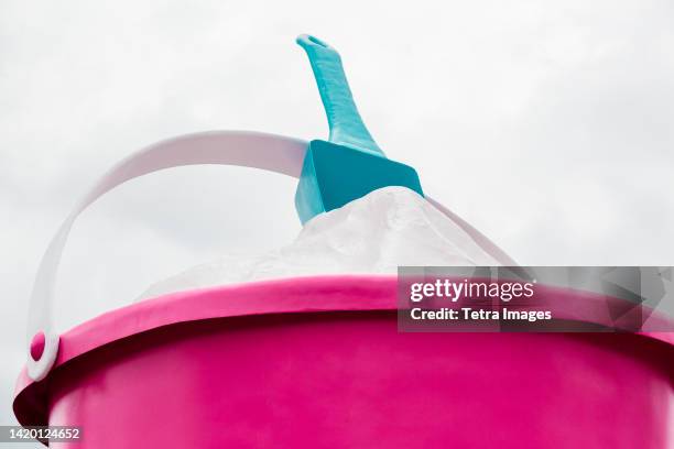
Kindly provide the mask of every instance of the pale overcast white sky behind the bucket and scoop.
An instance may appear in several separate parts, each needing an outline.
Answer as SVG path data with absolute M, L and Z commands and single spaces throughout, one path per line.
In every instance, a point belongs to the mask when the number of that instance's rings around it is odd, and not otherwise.
M 521 264 L 673 265 L 673 25 L 666 0 L 0 0 L 0 424 L 39 260 L 105 169 L 186 132 L 327 138 L 300 33 L 341 53 L 387 154 Z M 294 187 L 213 166 L 122 186 L 74 229 L 59 317 L 290 242 Z

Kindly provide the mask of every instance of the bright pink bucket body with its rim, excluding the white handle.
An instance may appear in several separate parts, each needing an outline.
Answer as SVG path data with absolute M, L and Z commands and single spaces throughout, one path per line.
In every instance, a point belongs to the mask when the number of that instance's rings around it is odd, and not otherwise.
M 394 308 L 389 276 L 141 303 L 63 335 L 14 410 L 83 427 L 57 448 L 673 447 L 668 335 L 399 333 Z

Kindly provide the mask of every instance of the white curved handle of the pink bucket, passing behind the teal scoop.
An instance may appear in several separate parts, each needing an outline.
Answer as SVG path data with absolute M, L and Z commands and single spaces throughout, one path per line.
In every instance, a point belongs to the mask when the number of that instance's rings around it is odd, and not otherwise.
M 28 322 L 28 374 L 40 381 L 50 372 L 58 353 L 52 306 L 56 273 L 75 219 L 87 206 L 127 180 L 183 165 L 219 164 L 262 168 L 298 177 L 308 143 L 303 140 L 248 131 L 213 131 L 187 134 L 140 150 L 94 185 L 68 215 L 42 258 L 31 295 Z M 489 239 L 434 199 L 426 199 L 461 227 L 487 253 L 503 265 L 515 263 Z

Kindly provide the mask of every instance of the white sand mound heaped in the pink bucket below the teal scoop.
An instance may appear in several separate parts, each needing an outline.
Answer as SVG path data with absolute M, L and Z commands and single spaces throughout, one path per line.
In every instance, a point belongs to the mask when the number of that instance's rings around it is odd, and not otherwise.
M 287 247 L 225 255 L 161 281 L 166 293 L 318 274 L 395 274 L 399 265 L 499 265 L 452 219 L 404 187 L 374 190 L 314 217 Z

